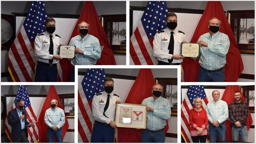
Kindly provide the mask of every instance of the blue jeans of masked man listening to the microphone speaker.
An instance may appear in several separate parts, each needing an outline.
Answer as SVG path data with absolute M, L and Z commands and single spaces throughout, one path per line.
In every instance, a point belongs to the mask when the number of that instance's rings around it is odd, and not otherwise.
M 54 136 L 56 142 L 62 142 L 61 128 L 59 128 L 57 131 L 53 131 L 51 128 L 47 129 L 47 142 L 53 143 Z

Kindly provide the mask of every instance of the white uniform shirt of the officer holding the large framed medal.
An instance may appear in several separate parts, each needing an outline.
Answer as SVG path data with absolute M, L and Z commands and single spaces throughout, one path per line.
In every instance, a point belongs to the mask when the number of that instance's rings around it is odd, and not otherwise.
M 108 117 L 107 118 L 103 115 L 104 107 L 106 105 L 108 98 L 107 95 L 108 94 L 105 91 L 103 91 L 101 92 L 101 94 L 97 94 L 93 97 L 92 112 L 95 120 L 108 124 L 111 120 L 115 121 L 116 101 L 121 101 L 121 99 L 118 96 L 115 96 L 114 93 L 110 94 L 109 106 L 108 109 L 105 111 L 105 115 Z

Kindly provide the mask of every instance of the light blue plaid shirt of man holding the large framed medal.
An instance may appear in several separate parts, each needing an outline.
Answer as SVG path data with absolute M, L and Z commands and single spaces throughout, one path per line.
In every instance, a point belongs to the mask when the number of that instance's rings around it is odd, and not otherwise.
M 158 131 L 165 127 L 166 120 L 171 117 L 171 104 L 170 102 L 159 97 L 154 100 L 153 96 L 148 97 L 142 101 L 141 104 L 147 105 L 154 109 L 154 112 L 147 112 L 146 129 L 151 131 Z

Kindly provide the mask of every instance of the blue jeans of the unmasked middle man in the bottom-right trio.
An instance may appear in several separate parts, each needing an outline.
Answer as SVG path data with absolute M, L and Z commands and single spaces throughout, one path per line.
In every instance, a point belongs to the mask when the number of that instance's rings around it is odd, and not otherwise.
M 223 129 L 221 129 L 221 127 Z M 210 136 L 210 143 L 216 143 L 217 135 L 219 137 L 220 142 L 226 140 L 226 125 L 225 122 L 220 124 L 220 126 L 215 127 L 209 122 L 209 136 Z

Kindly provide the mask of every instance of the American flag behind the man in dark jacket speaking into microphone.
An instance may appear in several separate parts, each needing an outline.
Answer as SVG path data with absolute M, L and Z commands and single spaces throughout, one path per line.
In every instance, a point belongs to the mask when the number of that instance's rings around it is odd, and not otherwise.
M 33 109 L 32 109 L 32 106 L 31 106 L 31 103 L 29 100 L 29 94 L 28 94 L 26 86 L 19 87 L 16 98 L 14 100 L 14 104 L 12 105 L 10 111 L 16 107 L 16 101 L 18 99 L 24 100 L 24 110 L 26 111 L 28 122 L 32 123 L 32 122 L 37 121 L 37 118 L 33 112 Z M 9 119 L 9 114 L 7 115 L 7 117 L 5 119 L 5 130 L 6 130 L 5 132 L 9 138 L 9 140 L 12 142 L 11 126 L 8 124 L 8 119 Z M 31 143 L 39 141 L 37 123 L 33 124 L 30 128 L 28 127 L 28 141 Z

